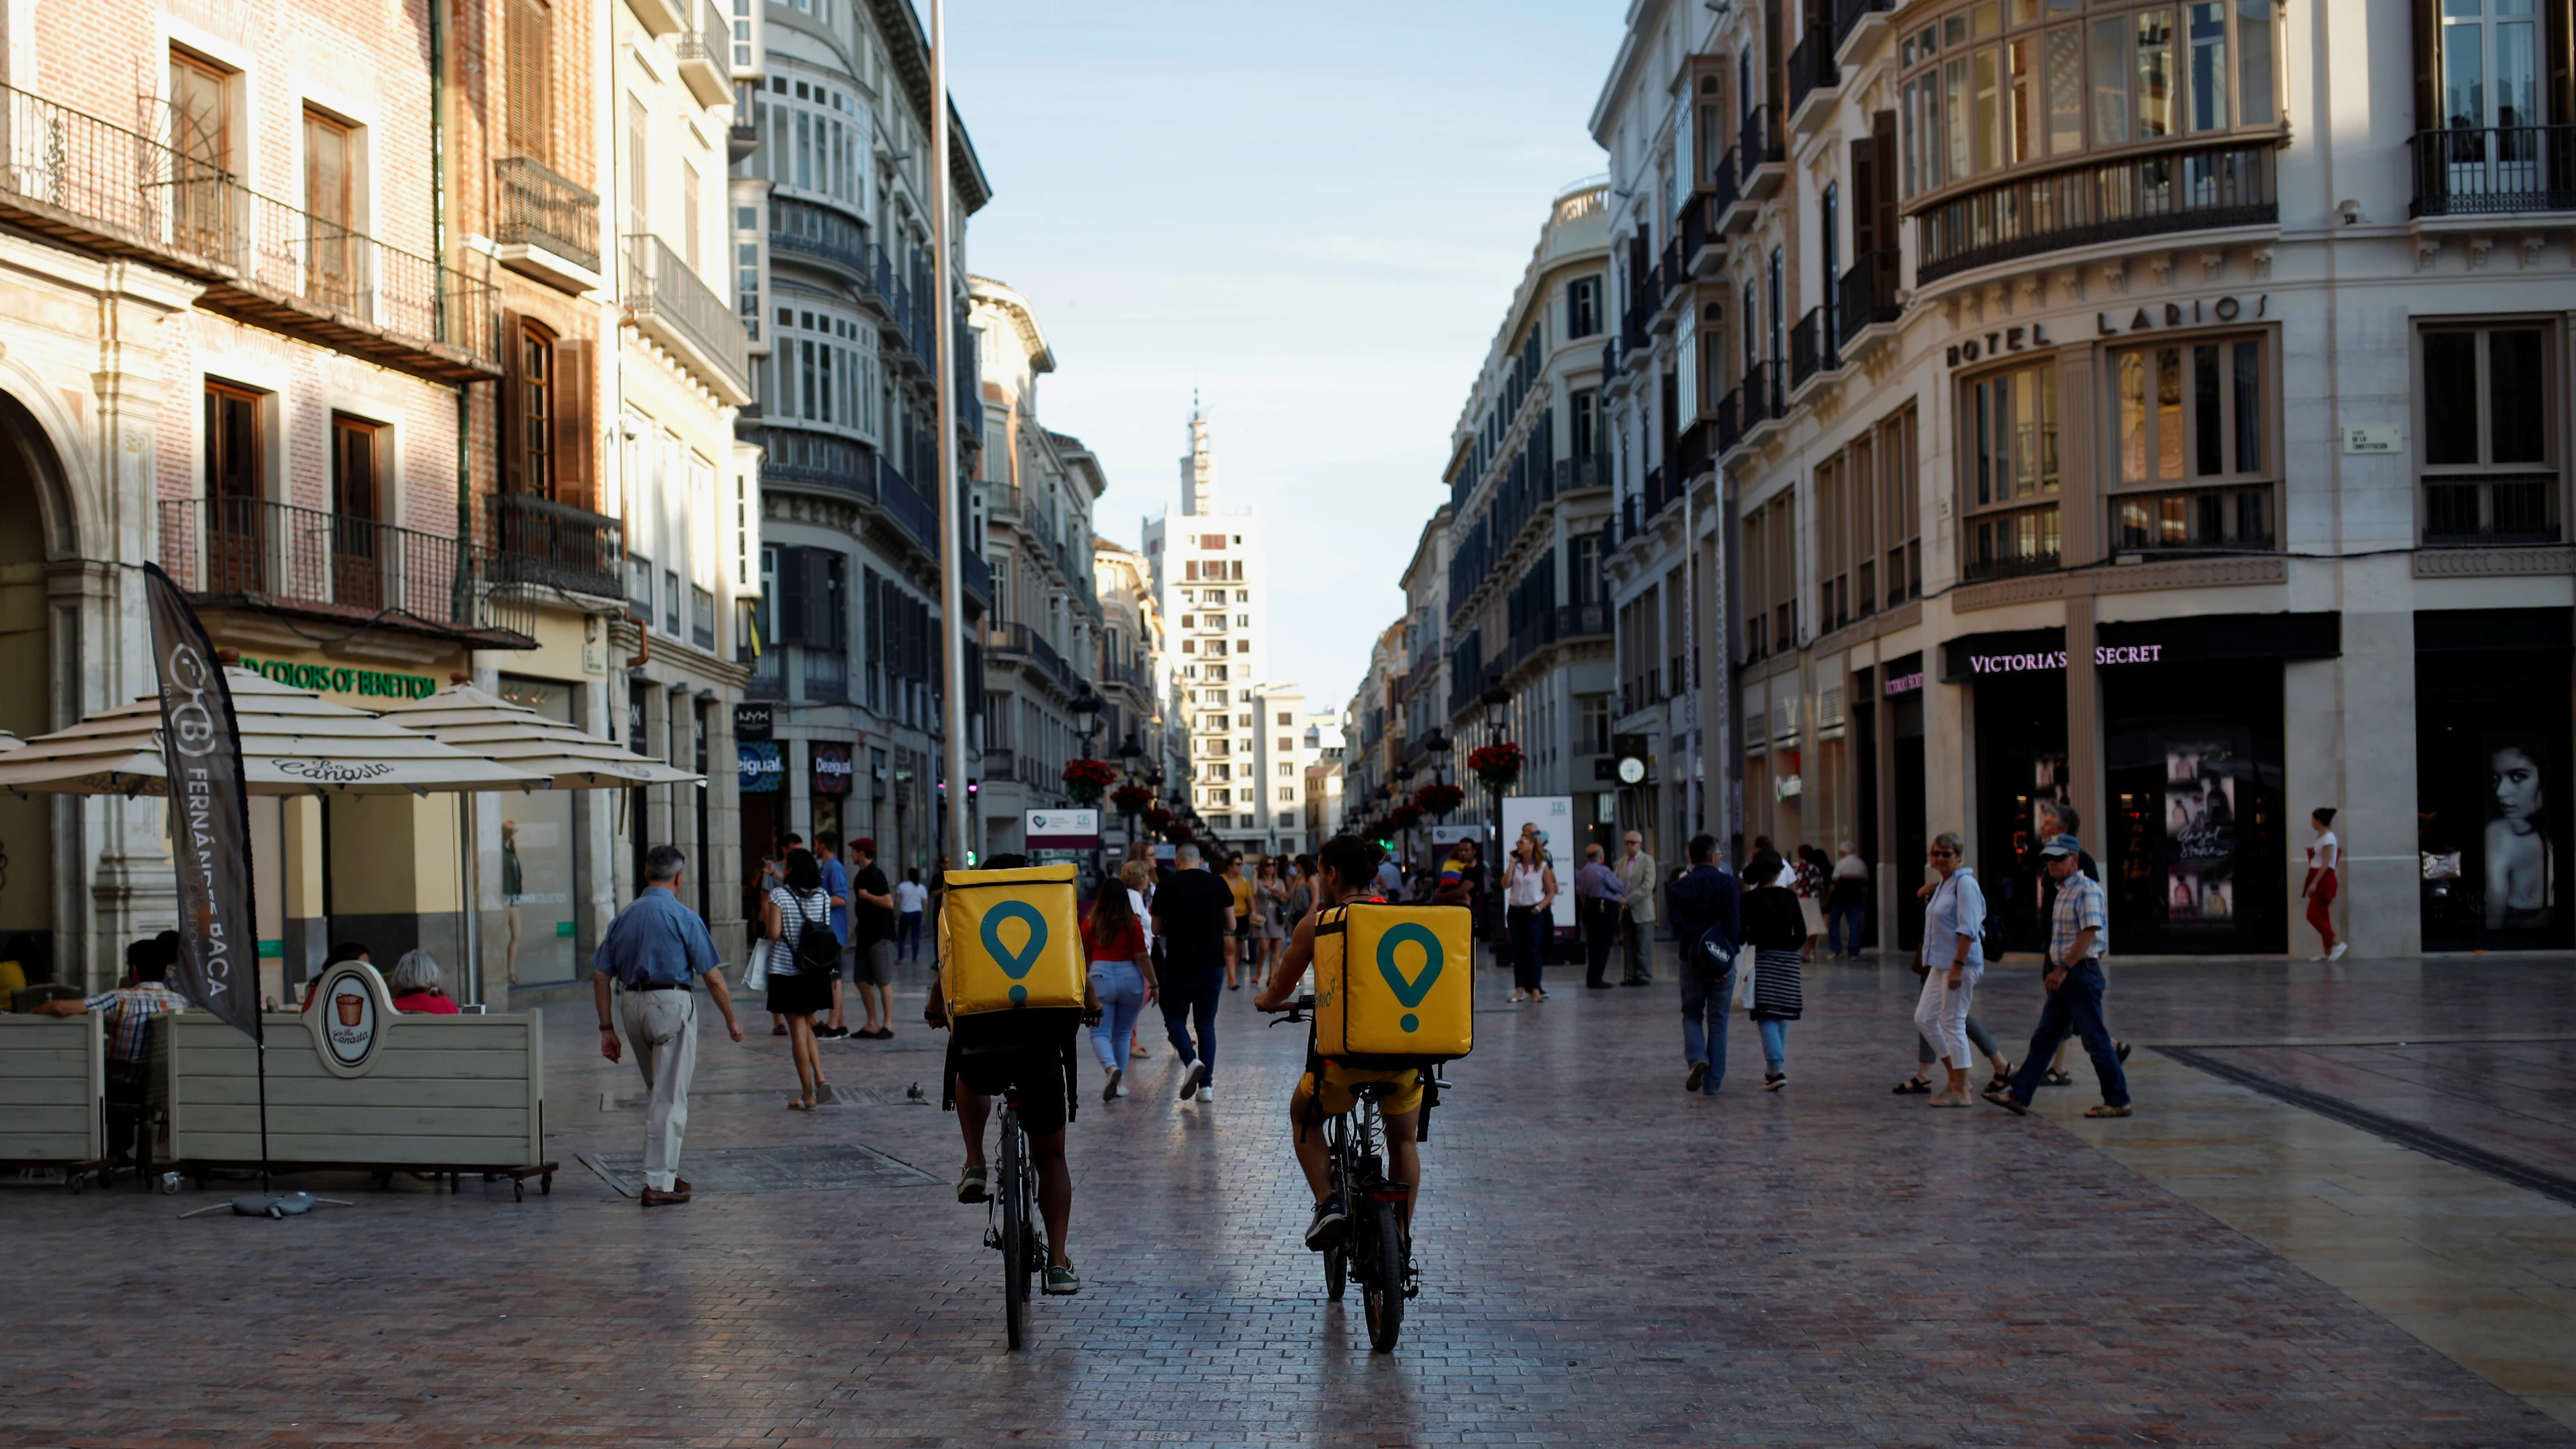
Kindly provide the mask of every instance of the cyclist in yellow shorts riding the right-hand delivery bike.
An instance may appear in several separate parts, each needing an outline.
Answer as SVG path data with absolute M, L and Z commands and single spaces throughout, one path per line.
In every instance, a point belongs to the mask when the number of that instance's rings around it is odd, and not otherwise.
M 1368 893 L 1368 880 L 1378 870 L 1378 847 L 1358 836 L 1332 836 L 1316 852 L 1316 911 L 1309 911 L 1296 924 L 1288 952 L 1280 955 L 1270 981 L 1252 999 L 1252 1006 L 1260 1011 L 1285 1011 L 1296 1004 L 1298 978 L 1314 963 L 1314 921 L 1324 906 L 1381 901 L 1381 896 Z M 1288 1096 L 1288 1130 L 1296 1135 L 1296 1163 L 1306 1168 L 1306 1186 L 1314 1189 L 1314 1223 L 1306 1225 L 1306 1246 L 1316 1253 L 1340 1243 L 1350 1230 L 1347 1207 L 1332 1192 L 1324 1132 L 1316 1127 L 1324 1117 L 1342 1117 L 1358 1107 L 1358 1096 L 1350 1089 L 1363 1081 L 1383 1081 L 1388 1086 L 1386 1096 L 1378 1099 L 1378 1112 L 1386 1117 L 1388 1176 L 1412 1189 L 1404 1197 L 1406 1225 L 1412 1225 L 1414 1197 L 1422 1192 L 1422 1150 L 1414 1145 L 1417 1117 L 1422 1112 L 1422 1068 L 1368 1071 L 1329 1063 L 1314 1053 L 1309 1027 L 1306 1076 L 1298 1078 L 1296 1094 Z

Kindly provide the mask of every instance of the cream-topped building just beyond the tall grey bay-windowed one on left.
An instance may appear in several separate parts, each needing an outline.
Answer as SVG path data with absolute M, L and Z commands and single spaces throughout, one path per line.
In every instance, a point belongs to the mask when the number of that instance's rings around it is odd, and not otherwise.
M 1115 728 L 1090 679 L 1103 636 L 1092 504 L 1108 479 L 1079 438 L 1038 422 L 1038 378 L 1056 355 L 1028 299 L 989 278 L 974 278 L 971 296 L 984 389 L 974 497 L 992 564 L 976 808 L 981 849 L 1018 852 L 1023 816 L 1069 806 L 1064 767 L 1095 757 Z

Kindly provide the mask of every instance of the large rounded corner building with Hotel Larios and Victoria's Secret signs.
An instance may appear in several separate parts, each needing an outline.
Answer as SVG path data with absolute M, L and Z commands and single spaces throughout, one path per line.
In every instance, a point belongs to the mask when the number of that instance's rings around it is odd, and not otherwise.
M 2566 947 L 2568 33 L 1641 5 L 1595 136 L 1615 728 L 1705 782 L 1659 849 L 1852 839 L 1914 945 L 1955 829 L 2032 950 L 2071 806 L 2125 952 L 2311 955 L 2334 808 L 2357 952 Z

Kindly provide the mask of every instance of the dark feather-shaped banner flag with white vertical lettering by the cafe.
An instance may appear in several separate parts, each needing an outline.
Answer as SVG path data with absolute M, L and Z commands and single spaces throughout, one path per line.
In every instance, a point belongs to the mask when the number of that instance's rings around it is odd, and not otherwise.
M 242 728 L 206 625 L 157 566 L 152 669 L 162 695 L 162 767 L 170 782 L 170 854 L 178 860 L 178 968 L 170 986 L 260 1040 L 258 924 L 250 914 L 250 788 Z

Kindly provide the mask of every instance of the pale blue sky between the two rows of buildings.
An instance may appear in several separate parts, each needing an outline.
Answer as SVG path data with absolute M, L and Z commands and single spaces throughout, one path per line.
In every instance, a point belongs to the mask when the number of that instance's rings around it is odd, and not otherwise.
M 927 0 L 920 0 L 927 15 Z M 1610 0 L 948 0 L 994 198 L 966 265 L 1056 355 L 1038 420 L 1136 546 L 1180 504 L 1190 394 L 1221 504 L 1260 510 L 1270 674 L 1340 710 L 1432 510 L 1466 391 L 1584 131 Z

